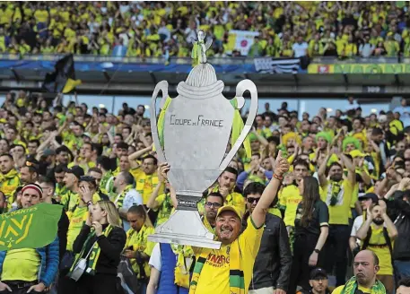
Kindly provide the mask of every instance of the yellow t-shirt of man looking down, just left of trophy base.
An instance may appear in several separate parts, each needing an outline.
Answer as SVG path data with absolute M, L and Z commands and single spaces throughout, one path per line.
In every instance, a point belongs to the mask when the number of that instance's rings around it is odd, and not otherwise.
M 128 249 L 130 246 L 133 247 L 133 251 L 140 251 L 148 256 L 151 256 L 153 253 L 153 247 L 155 246 L 155 242 L 148 241 L 148 235 L 153 235 L 155 233 L 154 228 L 146 227 L 145 225 L 143 228 L 136 232 L 134 229 L 128 229 L 126 232 L 126 246 L 125 249 Z M 136 264 L 135 258 L 130 259 L 131 265 L 138 276 L 140 277 L 139 266 Z M 150 276 L 150 265 L 148 262 L 144 263 L 144 271 L 147 277 Z

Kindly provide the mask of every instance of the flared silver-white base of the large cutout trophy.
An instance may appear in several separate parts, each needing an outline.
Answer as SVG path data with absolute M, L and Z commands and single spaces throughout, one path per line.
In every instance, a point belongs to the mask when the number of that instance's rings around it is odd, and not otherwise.
M 212 249 L 221 247 L 221 242 L 214 241 L 214 234 L 205 228 L 197 211 L 177 210 L 155 229 L 155 234 L 148 236 L 148 240 Z

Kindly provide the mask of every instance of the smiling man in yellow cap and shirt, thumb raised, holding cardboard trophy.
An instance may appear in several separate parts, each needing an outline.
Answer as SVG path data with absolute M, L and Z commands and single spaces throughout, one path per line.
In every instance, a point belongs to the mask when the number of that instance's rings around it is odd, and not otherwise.
M 248 293 L 253 265 L 259 251 L 266 213 L 281 186 L 289 163 L 281 151 L 276 158 L 275 174 L 248 219 L 241 234 L 242 214 L 235 206 L 222 206 L 217 213 L 215 234 L 221 249 L 194 247 L 196 264 L 189 294 Z

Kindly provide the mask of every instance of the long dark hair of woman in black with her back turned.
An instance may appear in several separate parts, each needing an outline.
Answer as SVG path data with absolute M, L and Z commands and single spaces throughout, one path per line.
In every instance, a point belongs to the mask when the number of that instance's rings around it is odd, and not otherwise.
M 315 203 L 320 199 L 316 177 L 303 177 L 303 195 L 301 199 L 301 226 L 308 227 L 313 217 Z

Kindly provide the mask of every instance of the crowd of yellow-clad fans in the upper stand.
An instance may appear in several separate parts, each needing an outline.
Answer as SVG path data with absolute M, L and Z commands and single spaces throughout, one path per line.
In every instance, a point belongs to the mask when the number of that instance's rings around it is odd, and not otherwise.
M 397 2 L 4 2 L 0 52 L 100 56 L 231 52 L 230 30 L 254 30 L 249 56 L 410 56 L 408 4 Z

